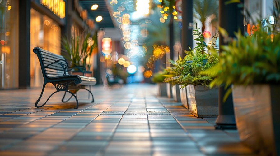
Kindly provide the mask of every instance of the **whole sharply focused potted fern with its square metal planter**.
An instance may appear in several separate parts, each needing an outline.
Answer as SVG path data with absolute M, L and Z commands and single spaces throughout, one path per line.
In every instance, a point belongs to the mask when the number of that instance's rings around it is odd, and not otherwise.
M 169 77 L 166 81 L 175 81 L 176 84 L 186 87 L 187 99 L 190 112 L 197 117 L 217 117 L 218 115 L 218 89 L 208 88 L 212 80 L 211 76 L 203 75 L 200 72 L 212 68 L 218 63 L 218 49 L 216 40 L 218 33 L 212 37 L 210 45 L 203 41 L 203 34 L 197 28 L 194 30 L 195 40 L 198 41 L 194 50 L 185 51 L 184 59 L 174 63 L 175 68 L 167 69 L 170 73 L 180 73 L 180 75 Z

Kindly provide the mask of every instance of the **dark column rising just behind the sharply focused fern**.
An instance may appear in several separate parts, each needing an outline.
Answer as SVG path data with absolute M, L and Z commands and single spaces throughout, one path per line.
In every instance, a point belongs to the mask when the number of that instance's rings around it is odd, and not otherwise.
M 182 0 L 182 48 L 193 47 L 193 0 Z M 183 51 L 183 50 L 182 50 Z M 185 54 L 180 54 L 184 58 Z

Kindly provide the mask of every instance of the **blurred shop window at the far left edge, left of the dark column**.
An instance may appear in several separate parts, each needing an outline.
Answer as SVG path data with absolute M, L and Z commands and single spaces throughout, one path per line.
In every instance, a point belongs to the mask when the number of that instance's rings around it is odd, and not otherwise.
M 0 1 L 0 88 L 18 88 L 18 0 Z

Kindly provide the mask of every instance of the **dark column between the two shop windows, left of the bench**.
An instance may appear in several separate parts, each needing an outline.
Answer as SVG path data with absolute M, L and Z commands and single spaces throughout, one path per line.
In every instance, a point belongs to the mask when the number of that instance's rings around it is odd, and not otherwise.
M 30 86 L 30 0 L 19 1 L 19 88 Z

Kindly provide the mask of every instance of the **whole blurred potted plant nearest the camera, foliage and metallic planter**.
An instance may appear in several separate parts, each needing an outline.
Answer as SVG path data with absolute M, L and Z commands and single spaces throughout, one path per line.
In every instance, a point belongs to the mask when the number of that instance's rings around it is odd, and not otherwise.
M 233 84 L 239 137 L 261 155 L 280 154 L 279 43 L 280 34 L 263 29 L 251 36 L 238 32 L 236 39 L 221 47 L 219 64 L 203 72 L 215 77 L 210 86 Z

